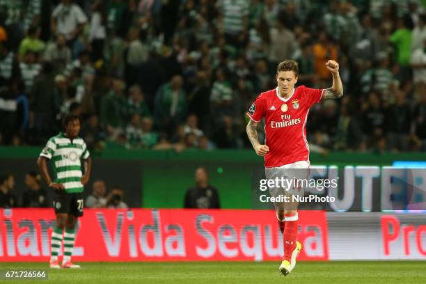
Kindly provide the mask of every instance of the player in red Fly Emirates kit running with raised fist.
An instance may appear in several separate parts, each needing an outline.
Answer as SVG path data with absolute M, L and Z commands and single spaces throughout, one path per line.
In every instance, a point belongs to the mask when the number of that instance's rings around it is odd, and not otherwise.
M 276 81 L 278 86 L 273 90 L 261 93 L 247 111 L 250 118 L 247 124 L 247 135 L 257 155 L 265 158 L 265 174 L 267 179 L 308 178 L 309 145 L 306 140 L 306 120 L 310 107 L 329 99 L 337 99 L 343 95 L 339 65 L 329 60 L 326 68 L 333 76 L 333 85 L 324 90 L 299 86 L 297 83 L 298 66 L 295 61 L 286 60 L 278 64 Z M 265 118 L 265 144 L 259 143 L 258 123 Z M 284 192 L 285 196 L 301 195 L 301 187 L 285 189 L 270 187 L 271 196 Z M 296 265 L 296 258 L 301 251 L 297 242 L 297 202 L 289 198 L 289 202 L 274 203 L 278 223 L 283 232 L 284 258 L 281 262 L 281 274 L 289 274 Z

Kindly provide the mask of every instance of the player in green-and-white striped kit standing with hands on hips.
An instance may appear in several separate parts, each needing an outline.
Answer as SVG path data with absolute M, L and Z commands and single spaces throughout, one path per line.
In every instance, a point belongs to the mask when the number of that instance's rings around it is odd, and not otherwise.
M 64 253 L 61 267 L 79 268 L 71 262 L 74 247 L 74 228 L 77 218 L 83 216 L 84 184 L 89 180 L 92 161 L 83 139 L 79 138 L 81 118 L 68 115 L 63 120 L 63 130 L 47 141 L 38 157 L 38 168 L 46 183 L 54 190 L 54 210 L 56 227 L 52 232 L 50 258 L 51 268 L 60 268 L 58 253 L 63 242 Z M 84 159 L 84 174 L 81 171 L 81 159 Z M 54 171 L 52 179 L 47 171 L 47 161 L 51 161 Z M 65 230 L 65 232 L 63 232 Z

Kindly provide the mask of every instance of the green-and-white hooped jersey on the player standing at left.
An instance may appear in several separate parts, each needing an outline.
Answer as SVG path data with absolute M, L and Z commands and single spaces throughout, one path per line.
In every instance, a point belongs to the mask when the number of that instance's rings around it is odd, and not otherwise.
M 63 184 L 65 192 L 72 194 L 83 192 L 81 184 L 81 161 L 88 159 L 89 152 L 83 139 L 69 139 L 63 133 L 53 136 L 47 141 L 46 147 L 40 153 L 40 157 L 51 159 L 54 171 L 54 182 Z

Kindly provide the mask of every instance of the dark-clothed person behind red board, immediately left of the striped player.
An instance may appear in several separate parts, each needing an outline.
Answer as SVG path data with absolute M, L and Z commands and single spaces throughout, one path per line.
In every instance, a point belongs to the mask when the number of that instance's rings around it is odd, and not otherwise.
M 46 189 L 41 187 L 40 174 L 30 171 L 25 175 L 26 191 L 22 196 L 22 207 L 49 207 Z

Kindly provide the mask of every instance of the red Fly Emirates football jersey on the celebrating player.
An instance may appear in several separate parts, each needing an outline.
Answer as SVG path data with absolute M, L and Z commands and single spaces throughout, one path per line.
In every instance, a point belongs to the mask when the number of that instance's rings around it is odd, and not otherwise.
M 321 100 L 323 90 L 299 86 L 285 100 L 278 87 L 261 93 L 247 111 L 256 123 L 265 118 L 265 167 L 278 167 L 295 161 L 309 161 L 306 120 L 310 107 Z

